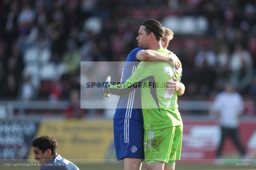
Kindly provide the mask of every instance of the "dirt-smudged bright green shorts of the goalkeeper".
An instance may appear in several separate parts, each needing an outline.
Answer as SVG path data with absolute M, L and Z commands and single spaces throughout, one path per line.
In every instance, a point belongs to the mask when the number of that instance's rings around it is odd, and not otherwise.
M 145 162 L 165 162 L 175 165 L 180 160 L 183 125 L 170 128 L 144 130 Z

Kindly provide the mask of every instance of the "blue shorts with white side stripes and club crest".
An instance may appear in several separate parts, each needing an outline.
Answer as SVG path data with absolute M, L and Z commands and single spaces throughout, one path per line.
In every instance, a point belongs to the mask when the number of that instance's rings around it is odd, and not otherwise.
M 143 122 L 134 119 L 113 119 L 116 159 L 144 159 Z

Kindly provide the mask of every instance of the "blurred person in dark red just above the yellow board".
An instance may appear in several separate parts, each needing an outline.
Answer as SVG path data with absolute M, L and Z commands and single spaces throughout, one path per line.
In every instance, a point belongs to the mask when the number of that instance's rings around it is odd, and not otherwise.
M 72 90 L 69 96 L 70 104 L 65 110 L 67 118 L 82 118 L 86 115 L 86 110 L 80 108 L 80 95 L 77 90 Z

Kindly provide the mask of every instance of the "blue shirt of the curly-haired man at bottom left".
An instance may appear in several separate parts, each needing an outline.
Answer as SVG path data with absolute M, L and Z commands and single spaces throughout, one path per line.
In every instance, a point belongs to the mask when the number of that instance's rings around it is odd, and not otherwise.
M 62 158 L 59 154 L 44 163 L 40 170 L 79 170 L 79 168 L 69 160 Z

